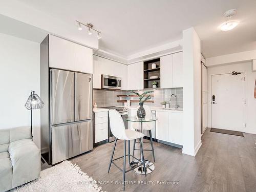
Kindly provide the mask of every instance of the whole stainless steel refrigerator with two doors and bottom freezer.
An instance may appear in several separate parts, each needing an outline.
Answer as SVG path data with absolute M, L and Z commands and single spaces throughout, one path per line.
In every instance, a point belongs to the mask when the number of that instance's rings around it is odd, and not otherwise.
M 92 74 L 50 70 L 51 164 L 93 148 Z

